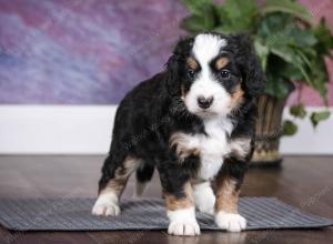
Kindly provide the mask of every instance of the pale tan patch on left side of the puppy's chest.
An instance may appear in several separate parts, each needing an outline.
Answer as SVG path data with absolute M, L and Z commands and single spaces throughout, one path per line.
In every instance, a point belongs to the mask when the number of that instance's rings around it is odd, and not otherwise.
M 200 149 L 196 145 L 190 145 L 189 135 L 184 133 L 174 133 L 170 139 L 170 148 L 175 146 L 175 153 L 180 163 L 190 155 L 198 156 L 200 154 Z

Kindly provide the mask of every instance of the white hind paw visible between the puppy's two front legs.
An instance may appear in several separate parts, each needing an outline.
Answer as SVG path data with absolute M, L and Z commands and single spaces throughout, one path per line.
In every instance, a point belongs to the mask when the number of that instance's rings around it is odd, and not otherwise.
M 209 182 L 194 185 L 196 209 L 206 214 L 214 214 L 215 195 Z

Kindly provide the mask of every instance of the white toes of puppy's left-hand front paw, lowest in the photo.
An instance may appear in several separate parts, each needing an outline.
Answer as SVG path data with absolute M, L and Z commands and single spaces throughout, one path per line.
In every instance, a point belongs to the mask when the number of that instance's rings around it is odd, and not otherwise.
M 169 224 L 168 233 L 171 235 L 199 235 L 200 227 L 195 218 L 173 221 Z

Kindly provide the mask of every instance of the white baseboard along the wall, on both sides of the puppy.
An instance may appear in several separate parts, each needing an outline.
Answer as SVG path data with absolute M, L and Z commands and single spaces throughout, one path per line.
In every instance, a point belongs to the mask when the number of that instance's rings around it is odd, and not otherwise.
M 0 105 L 0 153 L 104 154 L 115 110 L 112 105 Z M 282 139 L 282 153 L 333 154 L 333 116 L 315 130 L 309 120 L 297 124 L 295 136 Z

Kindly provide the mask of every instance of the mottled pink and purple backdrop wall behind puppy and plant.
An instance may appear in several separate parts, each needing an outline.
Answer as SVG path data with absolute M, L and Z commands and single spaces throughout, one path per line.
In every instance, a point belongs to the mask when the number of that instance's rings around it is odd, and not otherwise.
M 302 2 L 333 29 L 332 0 Z M 0 104 L 115 104 L 163 68 L 184 16 L 178 0 L 0 0 Z

